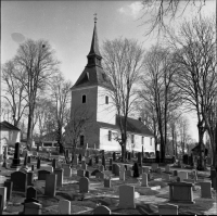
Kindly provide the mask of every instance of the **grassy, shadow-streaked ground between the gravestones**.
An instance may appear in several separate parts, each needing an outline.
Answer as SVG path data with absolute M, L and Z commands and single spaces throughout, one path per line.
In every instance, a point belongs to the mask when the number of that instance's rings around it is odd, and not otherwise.
M 21 157 L 23 164 L 23 157 Z M 94 161 L 94 160 L 93 160 Z M 8 160 L 11 163 L 11 158 Z M 36 167 L 37 161 L 31 158 L 31 164 Z M 101 162 L 99 163 L 101 164 Z M 108 164 L 108 162 L 107 162 Z M 30 167 L 29 165 L 29 167 Z M 51 165 L 51 162 L 42 162 L 41 166 Z M 129 164 L 128 164 L 129 165 Z M 146 166 L 146 165 L 145 165 Z M 98 168 L 98 165 L 93 164 L 92 167 L 88 166 L 90 174 L 92 170 Z M 163 167 L 162 167 L 163 168 Z M 163 168 L 164 169 L 164 168 Z M 188 170 L 184 168 L 176 168 L 177 170 Z M 0 183 L 2 183 L 5 178 L 10 177 L 12 170 L 1 167 L 1 178 Z M 105 170 L 107 177 L 112 177 L 112 187 L 104 188 L 103 180 L 95 179 L 94 176 L 90 176 L 90 191 L 89 193 L 79 193 L 78 177 L 76 167 L 73 168 L 73 176 L 69 178 L 64 178 L 64 185 L 56 189 L 55 198 L 48 198 L 43 195 L 44 181 L 34 181 L 34 186 L 37 188 L 37 195 L 39 202 L 42 204 L 43 215 L 59 214 L 59 201 L 68 200 L 72 204 L 72 214 L 92 214 L 93 208 L 97 205 L 106 205 L 112 211 L 113 215 L 157 215 L 158 204 L 167 203 L 169 193 L 168 186 L 166 181 L 161 179 L 159 174 L 153 173 L 153 179 L 149 181 L 150 187 L 161 186 L 161 188 L 145 189 L 140 186 L 140 178 L 126 177 L 126 180 L 119 180 L 118 177 L 114 177 L 110 170 Z M 35 169 L 35 176 L 37 179 L 37 169 Z M 196 182 L 196 190 L 193 191 L 193 198 L 195 204 L 178 204 L 179 214 L 181 215 L 216 215 L 216 191 L 213 191 L 214 199 L 201 199 L 200 182 L 204 180 L 209 180 L 209 170 L 199 171 L 199 180 Z M 191 176 L 190 176 L 191 177 Z M 171 180 L 176 181 L 176 177 Z M 136 191 L 136 208 L 119 208 L 118 207 L 118 187 L 122 185 L 135 186 Z M 12 199 L 7 204 L 7 208 L 3 214 L 18 214 L 23 211 L 22 203 L 25 200 L 25 194 L 21 192 L 12 192 Z

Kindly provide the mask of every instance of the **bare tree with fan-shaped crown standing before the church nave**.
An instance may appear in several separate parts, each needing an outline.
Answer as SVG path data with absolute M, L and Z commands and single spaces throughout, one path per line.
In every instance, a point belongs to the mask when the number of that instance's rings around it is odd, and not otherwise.
M 137 100 L 136 84 L 143 66 L 142 46 L 132 39 L 118 38 L 103 43 L 104 71 L 108 76 L 112 89 L 110 91 L 120 119 L 122 160 L 125 161 L 127 143 L 127 117 Z

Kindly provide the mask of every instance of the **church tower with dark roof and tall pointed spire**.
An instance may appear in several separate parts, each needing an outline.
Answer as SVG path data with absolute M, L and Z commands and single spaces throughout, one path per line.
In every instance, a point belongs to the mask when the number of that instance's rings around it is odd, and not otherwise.
M 115 125 L 116 109 L 112 103 L 112 84 L 102 67 L 99 49 L 97 17 L 87 65 L 72 87 L 71 116 L 75 110 L 86 110 L 91 115 L 91 126 L 86 129 L 85 143 L 99 143 L 99 123 Z M 94 129 L 94 131 L 92 131 Z M 94 137 L 94 138 L 93 138 Z

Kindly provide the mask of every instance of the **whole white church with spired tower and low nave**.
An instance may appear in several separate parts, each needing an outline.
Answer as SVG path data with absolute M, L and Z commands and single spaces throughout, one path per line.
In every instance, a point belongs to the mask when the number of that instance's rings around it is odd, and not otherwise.
M 123 116 L 116 114 L 116 107 L 110 97 L 111 82 L 102 68 L 102 56 L 99 50 L 97 21 L 92 35 L 88 63 L 79 78 L 72 87 L 71 116 L 76 115 L 75 110 L 89 113 L 89 119 L 78 138 L 78 145 L 88 143 L 89 148 L 95 147 L 105 151 L 120 151 L 120 145 L 115 138 L 119 136 L 119 123 Z M 73 120 L 73 117 L 72 117 Z M 67 128 L 67 127 L 66 127 Z M 127 150 L 155 153 L 154 136 L 141 120 L 127 119 Z

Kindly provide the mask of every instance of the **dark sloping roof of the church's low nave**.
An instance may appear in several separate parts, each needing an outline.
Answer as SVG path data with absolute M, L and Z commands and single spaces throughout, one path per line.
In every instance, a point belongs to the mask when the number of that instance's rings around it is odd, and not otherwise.
M 107 123 L 101 123 L 101 122 L 99 122 L 98 124 L 100 127 L 105 127 L 105 128 L 111 128 L 111 129 L 119 129 L 120 120 L 124 122 L 124 116 L 116 115 L 116 124 L 115 125 L 107 124 Z M 133 119 L 130 117 L 127 118 L 127 131 L 133 132 L 133 134 L 139 134 L 139 135 L 145 135 L 145 136 L 150 136 L 150 137 L 154 136 L 153 132 L 151 131 L 151 129 L 149 129 L 149 127 L 146 125 L 144 125 L 142 122 L 140 122 L 138 119 Z

